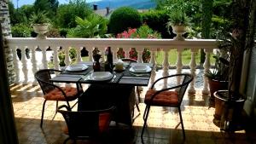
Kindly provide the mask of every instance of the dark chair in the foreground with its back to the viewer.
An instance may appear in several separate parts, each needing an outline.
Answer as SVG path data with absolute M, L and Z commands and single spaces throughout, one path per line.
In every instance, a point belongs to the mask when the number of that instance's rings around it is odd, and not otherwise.
M 64 107 L 67 110 L 62 110 Z M 74 143 L 76 140 L 83 139 L 100 140 L 101 136 L 108 132 L 114 108 L 74 112 L 69 110 L 66 105 L 59 107 L 58 112 L 61 112 L 67 124 L 64 133 L 69 135 L 63 143 L 68 140 L 73 140 Z

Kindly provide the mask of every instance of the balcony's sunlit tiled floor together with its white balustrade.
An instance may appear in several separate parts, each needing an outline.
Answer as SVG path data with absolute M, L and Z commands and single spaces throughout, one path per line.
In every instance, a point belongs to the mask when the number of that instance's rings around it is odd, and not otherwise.
M 11 85 L 11 94 L 15 110 L 15 120 L 20 143 L 62 143 L 67 135 L 62 134 L 61 128 L 65 125 L 61 114 L 55 114 L 55 102 L 47 104 L 44 129 L 39 129 L 39 121 L 43 105 L 42 91 L 33 78 L 33 73 L 39 68 L 48 68 L 48 49 L 53 54 L 53 63 L 55 69 L 60 69 L 58 65 L 58 51 L 60 47 L 65 51 L 65 64 L 70 65 L 72 60 L 69 57 L 69 49 L 75 48 L 77 51 L 76 62 L 81 62 L 80 50 L 85 47 L 89 51 L 89 61 L 92 61 L 92 51 L 94 48 L 101 50 L 104 54 L 106 47 L 113 50 L 113 60 L 117 60 L 117 50 L 123 48 L 125 55 L 129 54 L 131 48 L 136 48 L 138 52 L 138 62 L 143 62 L 143 49 L 150 49 L 151 60 L 154 64 L 152 78 L 148 86 L 154 82 L 154 79 L 166 76 L 170 73 L 191 72 L 195 79 L 189 85 L 186 95 L 183 98 L 183 123 L 187 138 L 183 141 L 182 130 L 176 109 L 165 107 L 153 108 L 148 119 L 148 130 L 144 134 L 144 142 L 149 143 L 253 143 L 256 141 L 255 132 L 247 133 L 245 130 L 235 134 L 221 132 L 217 126 L 212 123 L 213 108 L 208 108 L 209 93 L 207 78 L 204 73 L 210 69 L 210 55 L 213 49 L 216 49 L 214 39 L 186 39 L 185 41 L 173 41 L 170 39 L 86 39 L 86 38 L 47 38 L 44 40 L 36 38 L 7 38 L 9 48 L 13 55 L 16 55 L 16 49 L 21 50 L 21 60 L 14 57 L 15 66 L 15 84 Z M 31 51 L 31 59 L 26 59 L 26 49 Z M 37 51 L 36 49 L 41 49 Z M 156 53 L 160 49 L 164 53 L 163 61 L 156 62 Z M 175 49 L 177 51 L 177 62 L 170 66 L 168 61 L 168 51 Z M 182 52 L 189 49 L 191 59 L 189 66 L 183 66 Z M 202 69 L 197 69 L 195 55 L 199 49 L 205 49 L 206 61 Z M 51 55 L 50 54 L 50 55 Z M 38 55 L 42 56 L 38 58 Z M 104 60 L 104 58 L 103 58 Z M 162 69 L 156 67 L 161 65 Z M 171 69 L 170 67 L 175 67 Z M 189 69 L 184 69 L 189 67 Z M 86 87 L 86 86 L 85 86 Z M 145 93 L 145 87 L 143 94 Z M 143 94 L 141 99 L 143 101 Z M 139 104 L 143 113 L 145 105 Z M 140 144 L 140 131 L 143 126 L 143 114 L 136 118 L 133 128 L 134 131 L 128 131 L 124 128 L 121 131 L 114 130 L 109 139 L 111 143 L 137 143 Z M 87 143 L 88 141 L 85 141 Z M 81 141 L 84 143 L 84 141 Z M 88 142 L 90 143 L 90 142 Z

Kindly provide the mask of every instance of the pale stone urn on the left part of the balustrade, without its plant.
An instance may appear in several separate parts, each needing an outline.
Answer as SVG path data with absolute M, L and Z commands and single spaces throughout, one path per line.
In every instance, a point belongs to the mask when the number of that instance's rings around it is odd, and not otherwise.
M 44 34 L 49 31 L 49 24 L 48 23 L 33 24 L 32 27 L 33 27 L 34 31 L 36 33 L 38 33 L 37 38 L 40 38 L 40 39 L 45 39 L 46 38 L 46 36 Z

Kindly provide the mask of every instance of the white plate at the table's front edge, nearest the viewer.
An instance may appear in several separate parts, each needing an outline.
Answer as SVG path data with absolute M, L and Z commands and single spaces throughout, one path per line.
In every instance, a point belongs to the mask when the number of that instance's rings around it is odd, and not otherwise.
M 89 76 L 89 80 L 105 81 L 113 78 L 113 74 L 110 72 L 92 72 Z

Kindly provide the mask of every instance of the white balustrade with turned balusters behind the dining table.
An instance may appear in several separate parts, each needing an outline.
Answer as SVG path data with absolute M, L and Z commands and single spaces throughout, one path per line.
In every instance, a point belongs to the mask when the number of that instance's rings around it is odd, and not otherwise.
M 58 58 L 58 53 L 61 50 L 65 52 L 65 64 L 70 65 L 72 60 L 69 56 L 69 49 L 74 48 L 77 52 L 76 62 L 82 61 L 80 56 L 80 50 L 85 47 L 88 50 L 89 61 L 92 61 L 92 51 L 94 48 L 98 48 L 102 52 L 102 57 L 104 51 L 107 47 L 111 47 L 113 51 L 113 60 L 117 60 L 117 51 L 119 48 L 123 48 L 125 51 L 125 56 L 129 57 L 129 51 L 131 48 L 136 48 L 138 53 L 138 62 L 143 62 L 143 49 L 147 48 L 151 52 L 150 63 L 154 64 L 152 78 L 155 77 L 155 66 L 156 66 L 156 56 L 155 53 L 157 48 L 160 48 L 164 51 L 163 61 L 159 61 L 163 66 L 162 76 L 169 75 L 169 51 L 170 49 L 177 50 L 177 62 L 176 62 L 176 73 L 181 73 L 183 69 L 182 61 L 182 51 L 183 49 L 191 50 L 191 60 L 190 60 L 190 72 L 195 76 L 195 53 L 197 49 L 205 49 L 206 51 L 206 61 L 204 63 L 204 71 L 206 72 L 210 68 L 210 53 L 212 49 L 217 48 L 217 42 L 215 39 L 186 39 L 184 41 L 173 41 L 172 39 L 125 39 L 125 38 L 46 38 L 46 39 L 37 39 L 32 37 L 8 37 L 7 43 L 9 48 L 13 50 L 14 55 L 14 66 L 15 66 L 15 75 L 16 83 L 28 83 L 29 72 L 36 72 L 38 70 L 38 63 L 42 62 L 43 66 L 40 68 L 48 68 L 48 60 L 46 55 L 46 49 L 50 48 L 53 50 L 53 62 L 55 69 L 60 69 Z M 19 60 L 17 59 L 16 49 L 19 47 L 21 49 L 21 63 L 19 67 Z M 42 60 L 38 60 L 35 53 L 37 53 L 36 48 L 42 50 Z M 31 50 L 31 61 L 32 61 L 32 70 L 28 71 L 29 66 L 27 66 L 26 60 L 26 49 Z M 104 60 L 104 59 L 103 59 Z M 21 71 L 20 71 L 21 70 Z M 20 79 L 20 72 L 23 72 L 24 78 Z M 32 74 L 32 73 L 31 73 Z M 32 80 L 34 84 L 35 81 Z M 150 84 L 154 83 L 154 79 L 151 79 Z M 207 78 L 204 78 L 203 92 L 208 93 L 208 84 Z M 195 80 L 189 86 L 189 92 L 195 92 Z

